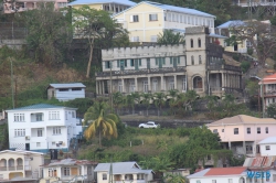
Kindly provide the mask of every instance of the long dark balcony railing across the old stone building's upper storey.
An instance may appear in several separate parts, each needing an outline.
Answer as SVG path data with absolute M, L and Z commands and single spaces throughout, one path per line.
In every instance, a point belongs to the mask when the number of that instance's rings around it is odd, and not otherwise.
M 113 76 L 120 76 L 120 75 L 139 75 L 139 74 L 159 74 L 159 73 L 178 73 L 178 72 L 185 72 L 185 67 L 164 67 L 164 68 L 142 68 L 142 69 L 125 69 L 125 71 L 115 71 L 112 72 Z M 100 72 L 97 73 L 96 76 L 105 77 L 110 76 L 110 72 Z

